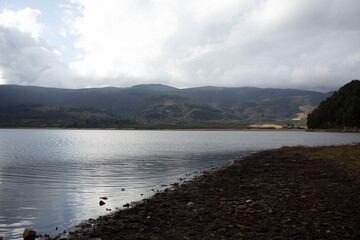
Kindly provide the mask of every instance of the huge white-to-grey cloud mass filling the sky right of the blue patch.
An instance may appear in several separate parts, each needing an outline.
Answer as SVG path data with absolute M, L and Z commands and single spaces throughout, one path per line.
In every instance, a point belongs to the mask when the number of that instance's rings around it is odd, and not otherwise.
M 358 1 L 73 2 L 82 76 L 300 88 L 358 77 Z

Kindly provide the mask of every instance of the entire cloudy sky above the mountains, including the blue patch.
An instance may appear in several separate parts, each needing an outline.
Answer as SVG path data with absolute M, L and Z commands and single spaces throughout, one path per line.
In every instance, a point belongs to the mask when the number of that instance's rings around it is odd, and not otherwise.
M 358 0 L 1 0 L 0 84 L 337 90 Z

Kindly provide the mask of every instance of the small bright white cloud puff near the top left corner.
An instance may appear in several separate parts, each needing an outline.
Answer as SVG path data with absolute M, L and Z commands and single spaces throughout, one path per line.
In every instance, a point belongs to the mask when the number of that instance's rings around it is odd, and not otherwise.
M 37 39 L 44 29 L 44 25 L 37 22 L 37 16 L 40 14 L 40 10 L 29 7 L 17 12 L 5 9 L 0 14 L 0 26 L 17 28 L 22 32 L 31 33 L 31 36 Z

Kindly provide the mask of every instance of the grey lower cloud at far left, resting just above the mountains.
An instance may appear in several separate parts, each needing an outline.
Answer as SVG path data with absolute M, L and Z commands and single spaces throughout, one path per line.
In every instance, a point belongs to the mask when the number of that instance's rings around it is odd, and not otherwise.
M 2 84 L 53 87 L 76 85 L 72 83 L 75 75 L 61 61 L 61 54 L 34 39 L 31 33 L 0 27 L 0 52 Z

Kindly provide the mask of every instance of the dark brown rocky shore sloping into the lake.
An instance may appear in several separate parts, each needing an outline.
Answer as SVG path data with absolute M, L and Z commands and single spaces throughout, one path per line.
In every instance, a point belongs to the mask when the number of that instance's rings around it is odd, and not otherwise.
M 43 239 L 360 239 L 360 172 L 321 149 L 256 153 Z

